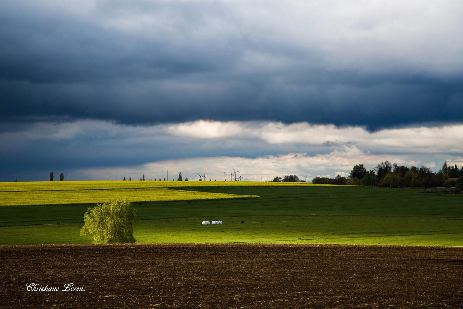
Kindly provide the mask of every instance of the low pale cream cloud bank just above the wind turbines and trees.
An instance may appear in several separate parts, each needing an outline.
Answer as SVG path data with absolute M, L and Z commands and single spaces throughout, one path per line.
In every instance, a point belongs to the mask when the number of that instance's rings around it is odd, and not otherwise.
M 278 156 L 264 156 L 257 158 L 240 157 L 200 157 L 178 160 L 158 161 L 145 165 L 144 170 L 169 170 L 191 173 L 193 178 L 199 178 L 198 173 L 206 172 L 210 179 L 230 180 L 230 172 L 235 169 L 240 172 L 243 180 L 259 181 L 260 177 L 274 177 L 294 174 L 303 179 L 304 176 L 313 178 L 321 172 L 332 171 L 334 175 L 348 176 L 352 167 L 363 163 L 366 168 L 373 169 L 381 161 L 389 160 L 397 164 L 413 165 L 409 157 L 403 155 L 372 155 L 360 151 L 355 146 L 345 147 L 344 150 L 334 150 L 327 154 L 308 156 L 306 153 L 288 153 Z M 428 162 L 422 162 L 430 166 Z M 328 175 L 328 176 L 326 176 Z M 331 177 L 325 174 L 325 177 Z

